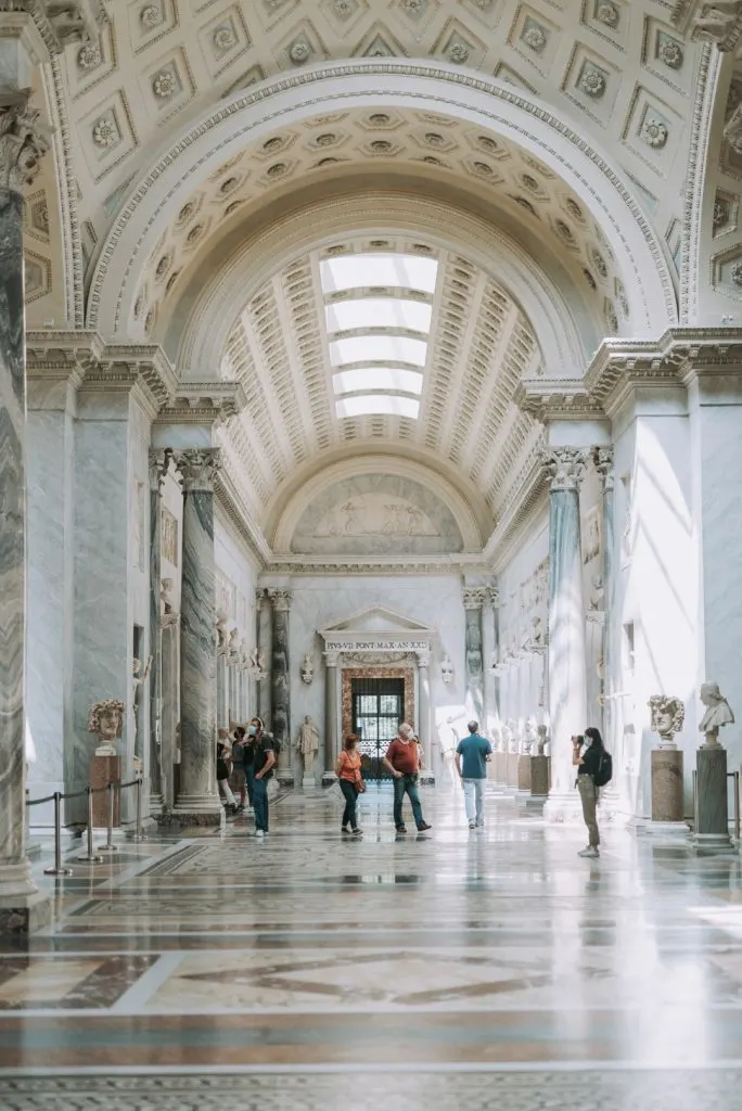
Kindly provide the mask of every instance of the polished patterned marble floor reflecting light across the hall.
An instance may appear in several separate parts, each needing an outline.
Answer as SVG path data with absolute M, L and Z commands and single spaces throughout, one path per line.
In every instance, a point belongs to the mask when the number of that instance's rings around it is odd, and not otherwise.
M 0 949 L 0 1108 L 742 1108 L 742 874 L 622 829 L 583 860 L 492 790 L 335 791 L 271 835 L 151 837 L 43 880 L 54 924 Z M 41 873 L 47 859 L 38 864 Z

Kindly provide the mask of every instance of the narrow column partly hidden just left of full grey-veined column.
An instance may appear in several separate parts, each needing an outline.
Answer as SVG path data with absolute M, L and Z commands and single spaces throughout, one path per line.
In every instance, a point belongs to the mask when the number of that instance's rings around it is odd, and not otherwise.
M 162 483 L 171 452 L 150 449 L 150 811 L 162 812 Z

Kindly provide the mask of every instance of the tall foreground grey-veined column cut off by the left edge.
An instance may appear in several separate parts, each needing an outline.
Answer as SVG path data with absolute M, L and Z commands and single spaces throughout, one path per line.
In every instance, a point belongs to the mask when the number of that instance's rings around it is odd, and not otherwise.
M 19 47 L 20 49 L 20 47 Z M 0 108 L 0 931 L 39 924 L 26 857 L 26 330 L 23 187 L 48 142 L 39 113 Z M 22 99 L 21 99 L 22 98 Z

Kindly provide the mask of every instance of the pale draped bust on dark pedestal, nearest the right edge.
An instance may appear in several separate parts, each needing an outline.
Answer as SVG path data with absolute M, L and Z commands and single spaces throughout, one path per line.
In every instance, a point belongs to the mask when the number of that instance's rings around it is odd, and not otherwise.
M 734 714 L 719 690 L 719 683 L 703 683 L 700 694 L 705 707 L 699 725 L 704 743 L 696 752 L 693 844 L 696 848 L 728 849 L 726 750 L 719 743 L 719 730 L 732 724 Z

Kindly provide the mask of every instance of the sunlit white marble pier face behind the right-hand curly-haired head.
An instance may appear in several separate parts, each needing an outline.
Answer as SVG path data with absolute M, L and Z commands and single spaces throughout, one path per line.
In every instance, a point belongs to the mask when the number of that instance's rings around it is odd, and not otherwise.
M 612 673 L 613 750 L 619 804 L 651 813 L 648 701 L 685 700 L 686 813 L 698 747 L 698 557 L 685 401 L 679 393 L 639 397 L 614 422 L 615 620 Z M 633 660 L 628 629 L 633 625 Z

